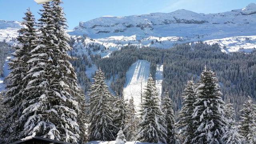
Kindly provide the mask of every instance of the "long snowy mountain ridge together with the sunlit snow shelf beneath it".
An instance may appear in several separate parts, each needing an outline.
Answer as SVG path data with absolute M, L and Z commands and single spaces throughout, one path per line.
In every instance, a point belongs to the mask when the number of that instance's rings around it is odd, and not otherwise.
M 198 40 L 219 43 L 216 40 L 220 39 L 222 45 L 227 46 L 223 52 L 241 51 L 239 47 L 244 45 L 248 46 L 244 46 L 247 52 L 252 50 L 256 41 L 246 42 L 244 39 L 253 39 L 255 31 L 256 4 L 252 3 L 242 9 L 218 14 L 176 10 L 136 16 L 104 16 L 80 22 L 69 34 L 86 35 L 107 45 L 106 48 L 120 48 L 128 44 L 170 48 L 177 43 Z M 225 45 L 233 37 L 237 41 L 232 43 L 232 47 Z

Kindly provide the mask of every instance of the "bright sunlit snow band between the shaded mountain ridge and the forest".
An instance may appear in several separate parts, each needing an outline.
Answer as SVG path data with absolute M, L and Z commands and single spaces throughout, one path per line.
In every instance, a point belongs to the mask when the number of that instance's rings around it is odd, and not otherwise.
M 109 57 L 110 54 L 119 50 L 120 48 L 127 46 L 128 44 L 132 46 L 149 46 L 156 48 L 171 48 L 174 44 L 190 42 L 191 39 L 176 37 L 176 36 L 167 36 L 167 37 L 155 37 L 149 36 L 148 38 L 143 38 L 141 40 L 136 40 L 136 35 L 131 37 L 126 36 L 111 36 L 108 38 L 96 38 L 90 40 L 87 38 L 85 40 L 85 44 L 88 46 L 89 44 L 98 44 L 106 47 L 107 49 L 104 51 L 96 51 L 92 52 L 92 54 L 100 54 L 102 58 Z M 195 40 L 196 41 L 196 40 Z M 251 52 L 256 48 L 256 36 L 234 36 L 220 39 L 210 39 L 205 40 L 204 42 L 208 44 L 218 43 L 222 48 L 222 52 Z M 243 48 L 243 49 L 242 49 Z

